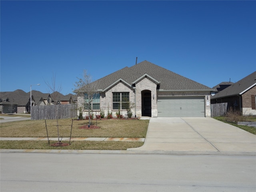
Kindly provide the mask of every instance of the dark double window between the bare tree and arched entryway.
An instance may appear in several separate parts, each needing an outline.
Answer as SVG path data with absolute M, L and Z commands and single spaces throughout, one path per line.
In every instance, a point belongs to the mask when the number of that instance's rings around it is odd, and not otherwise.
M 113 93 L 113 109 L 126 109 L 129 102 L 129 92 Z

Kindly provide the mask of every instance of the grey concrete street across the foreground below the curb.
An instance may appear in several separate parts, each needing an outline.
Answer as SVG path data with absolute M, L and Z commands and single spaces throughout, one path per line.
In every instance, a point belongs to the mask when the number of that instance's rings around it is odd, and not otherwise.
M 256 156 L 1 153 L 1 192 L 255 192 Z

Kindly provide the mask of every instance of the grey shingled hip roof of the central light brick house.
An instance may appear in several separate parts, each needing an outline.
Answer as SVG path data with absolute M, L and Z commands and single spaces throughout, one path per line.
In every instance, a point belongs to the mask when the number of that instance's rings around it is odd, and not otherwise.
M 178 75 L 172 71 L 157 66 L 146 60 L 130 68 L 122 68 L 121 70 L 118 70 L 112 74 L 109 74 L 108 76 L 100 78 L 93 83 L 96 83 L 99 89 L 104 90 L 120 78 L 132 85 L 132 82 L 134 82 L 144 74 L 148 74 L 149 76 L 160 82 L 159 90 L 212 90 L 208 86 L 204 86 L 203 84 L 190 80 L 184 76 Z

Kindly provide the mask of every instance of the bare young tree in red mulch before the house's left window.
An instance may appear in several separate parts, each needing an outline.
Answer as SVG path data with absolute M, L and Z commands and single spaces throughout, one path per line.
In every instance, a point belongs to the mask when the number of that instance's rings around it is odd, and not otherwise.
M 78 78 L 78 77 L 77 77 Z M 92 77 L 86 70 L 83 72 L 82 78 L 78 78 L 75 83 L 75 91 L 78 98 L 80 98 L 80 106 L 78 108 L 88 109 L 89 125 L 91 125 L 90 110 L 91 104 L 98 93 L 96 82 L 92 82 Z

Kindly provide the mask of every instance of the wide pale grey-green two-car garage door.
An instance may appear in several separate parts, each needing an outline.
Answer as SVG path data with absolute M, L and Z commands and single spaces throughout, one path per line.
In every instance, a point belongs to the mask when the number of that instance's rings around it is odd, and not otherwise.
M 158 117 L 204 117 L 204 97 L 158 97 Z

